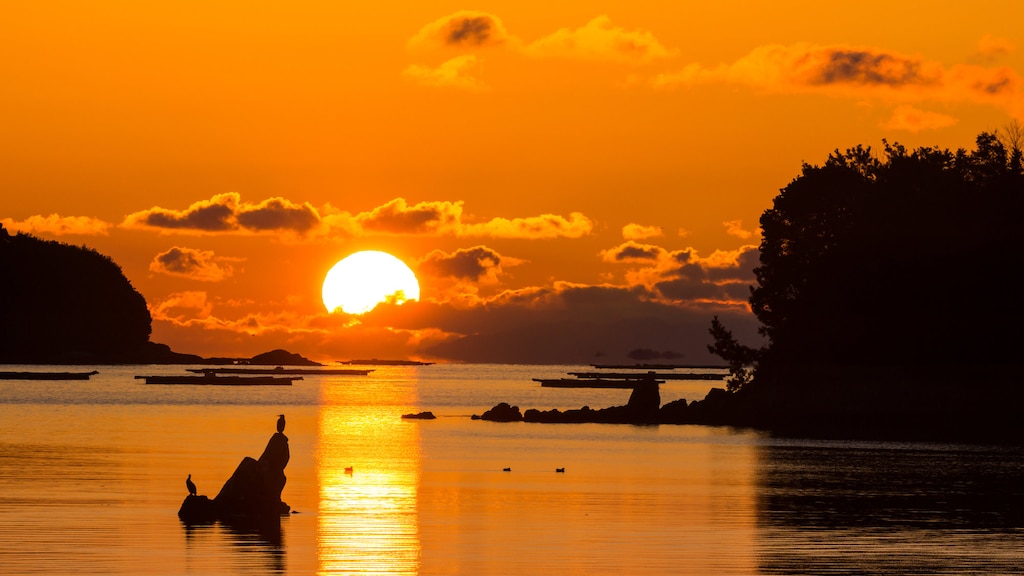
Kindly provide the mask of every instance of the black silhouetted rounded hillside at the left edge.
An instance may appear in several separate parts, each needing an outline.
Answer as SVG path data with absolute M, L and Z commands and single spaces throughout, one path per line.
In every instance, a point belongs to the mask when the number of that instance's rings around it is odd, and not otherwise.
M 151 343 L 145 299 L 95 250 L 0 227 L 0 363 L 191 361 Z

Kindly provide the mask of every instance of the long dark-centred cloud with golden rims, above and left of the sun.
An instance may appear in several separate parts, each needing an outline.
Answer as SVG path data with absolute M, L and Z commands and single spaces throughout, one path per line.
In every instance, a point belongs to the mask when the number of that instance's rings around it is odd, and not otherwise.
M 238 193 L 218 194 L 184 210 L 150 208 L 125 216 L 126 229 L 158 230 L 165 233 L 280 233 L 298 235 L 314 229 L 319 215 L 308 203 L 294 204 L 270 198 L 259 204 L 242 202 Z

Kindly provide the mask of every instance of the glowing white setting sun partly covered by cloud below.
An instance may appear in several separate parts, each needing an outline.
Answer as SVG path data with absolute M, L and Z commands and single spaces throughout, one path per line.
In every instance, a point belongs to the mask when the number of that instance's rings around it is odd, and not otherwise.
M 420 283 L 406 262 L 377 250 L 351 254 L 327 273 L 324 305 L 328 312 L 366 314 L 381 303 L 420 298 Z

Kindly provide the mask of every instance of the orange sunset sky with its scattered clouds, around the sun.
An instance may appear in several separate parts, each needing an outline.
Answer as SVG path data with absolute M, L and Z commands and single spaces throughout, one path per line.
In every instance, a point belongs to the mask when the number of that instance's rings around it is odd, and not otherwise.
M 760 343 L 778 191 L 837 149 L 1024 120 L 1022 22 L 1019 0 L 8 2 L 0 223 L 112 257 L 180 353 L 716 362 L 715 315 Z M 327 272 L 370 249 L 420 300 L 328 314 Z

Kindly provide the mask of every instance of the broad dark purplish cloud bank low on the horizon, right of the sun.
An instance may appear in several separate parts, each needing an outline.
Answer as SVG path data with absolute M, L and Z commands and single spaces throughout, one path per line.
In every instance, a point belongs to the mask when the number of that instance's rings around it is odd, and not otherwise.
M 716 314 L 742 341 L 759 339 L 757 322 L 744 310 L 677 305 L 649 296 L 637 288 L 557 283 L 503 293 L 471 307 L 417 302 L 415 312 L 369 321 L 402 329 L 434 327 L 447 337 L 423 346 L 421 354 L 460 362 L 587 364 L 626 361 L 638 348 L 678 351 L 693 363 L 720 362 L 707 352 Z

